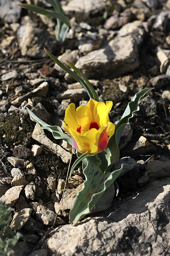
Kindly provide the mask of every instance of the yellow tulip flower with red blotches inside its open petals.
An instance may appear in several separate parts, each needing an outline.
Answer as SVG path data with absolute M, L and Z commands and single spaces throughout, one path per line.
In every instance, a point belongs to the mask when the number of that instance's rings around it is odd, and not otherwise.
M 75 104 L 69 104 L 63 128 L 72 137 L 78 152 L 94 155 L 105 150 L 115 132 L 115 126 L 108 117 L 112 105 L 112 101 L 105 104 L 90 99 L 85 106 L 81 105 L 75 110 Z

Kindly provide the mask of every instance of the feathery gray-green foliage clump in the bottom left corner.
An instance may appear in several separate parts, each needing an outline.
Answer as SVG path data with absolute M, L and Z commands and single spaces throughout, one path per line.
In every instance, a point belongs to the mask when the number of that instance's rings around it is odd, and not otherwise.
M 17 243 L 19 233 L 12 230 L 9 225 L 12 220 L 13 209 L 9 204 L 0 200 L 0 255 L 5 256 L 7 251 Z

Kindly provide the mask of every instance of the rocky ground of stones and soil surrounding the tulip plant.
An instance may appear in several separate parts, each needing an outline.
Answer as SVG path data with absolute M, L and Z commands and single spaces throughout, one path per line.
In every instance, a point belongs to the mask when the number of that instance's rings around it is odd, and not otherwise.
M 62 46 L 55 19 L 19 3 L 0 1 L 0 199 L 14 208 L 10 227 L 22 235 L 8 256 L 169 255 L 170 1 L 63 0 L 70 30 Z M 68 224 L 75 193 L 61 191 L 72 148 L 41 130 L 26 106 L 62 126 L 68 104 L 88 96 L 44 47 L 79 68 L 100 100 L 113 101 L 115 124 L 136 92 L 154 87 L 121 138 L 115 168 L 127 165 L 115 194 L 111 187 L 77 227 Z M 66 188 L 83 181 L 79 167 Z

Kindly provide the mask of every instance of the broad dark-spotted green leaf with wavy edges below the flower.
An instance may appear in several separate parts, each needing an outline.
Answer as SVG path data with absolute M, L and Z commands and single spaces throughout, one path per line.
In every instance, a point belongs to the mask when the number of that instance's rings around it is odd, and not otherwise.
M 69 213 L 69 220 L 73 226 L 77 225 L 78 221 L 94 207 L 104 191 L 119 176 L 123 167 L 124 165 L 122 165 L 119 170 L 103 174 L 99 167 L 87 161 L 87 165 L 83 169 L 83 173 L 86 177 L 84 188 L 78 192 Z

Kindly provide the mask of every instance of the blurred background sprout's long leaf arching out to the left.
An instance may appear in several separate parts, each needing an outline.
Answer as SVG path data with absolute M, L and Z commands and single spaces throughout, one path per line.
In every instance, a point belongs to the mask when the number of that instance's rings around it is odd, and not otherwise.
M 29 9 L 30 11 L 33 11 L 33 12 L 36 12 L 36 13 L 39 13 L 39 14 L 42 14 L 42 15 L 45 15 L 48 17 L 54 17 L 56 19 L 60 19 L 60 20 L 62 20 L 63 23 L 65 23 L 67 26 L 69 26 L 69 19 L 61 13 L 51 11 L 51 10 L 46 10 L 46 9 L 43 9 L 43 8 L 33 5 L 33 4 L 23 3 L 23 4 L 18 4 L 18 5 L 21 8 Z

